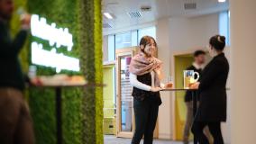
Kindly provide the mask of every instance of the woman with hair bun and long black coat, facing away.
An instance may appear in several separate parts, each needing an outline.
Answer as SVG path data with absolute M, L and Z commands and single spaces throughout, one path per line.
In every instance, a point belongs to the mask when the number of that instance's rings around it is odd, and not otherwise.
M 208 126 L 215 144 L 224 144 L 221 122 L 226 121 L 226 81 L 229 64 L 224 56 L 225 37 L 213 36 L 209 41 L 209 53 L 213 57 L 205 67 L 198 87 L 200 104 L 192 132 L 200 144 L 208 144 L 203 129 Z

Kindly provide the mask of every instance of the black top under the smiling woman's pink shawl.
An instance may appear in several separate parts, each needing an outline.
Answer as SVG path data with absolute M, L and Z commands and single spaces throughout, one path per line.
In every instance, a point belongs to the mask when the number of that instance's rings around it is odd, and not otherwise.
M 151 85 L 151 73 L 144 74 L 142 76 L 137 76 L 137 80 L 145 85 Z M 137 100 L 143 101 L 147 98 L 155 99 L 156 103 L 161 104 L 160 99 L 160 92 L 151 92 L 151 91 L 144 91 L 137 87 L 133 86 L 133 97 Z

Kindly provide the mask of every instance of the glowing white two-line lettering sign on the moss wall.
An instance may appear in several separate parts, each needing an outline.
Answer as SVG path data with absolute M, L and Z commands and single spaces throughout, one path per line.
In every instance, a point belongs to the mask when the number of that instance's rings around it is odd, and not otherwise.
M 32 36 L 49 41 L 52 49 L 43 49 L 42 44 L 32 42 L 32 63 L 36 65 L 55 67 L 57 72 L 61 69 L 79 71 L 78 58 L 70 58 L 62 53 L 57 53 L 56 49 L 67 47 L 70 51 L 74 45 L 73 36 L 68 28 L 56 28 L 56 23 L 48 24 L 46 19 L 32 14 L 31 20 Z M 54 45 L 56 48 L 54 48 Z

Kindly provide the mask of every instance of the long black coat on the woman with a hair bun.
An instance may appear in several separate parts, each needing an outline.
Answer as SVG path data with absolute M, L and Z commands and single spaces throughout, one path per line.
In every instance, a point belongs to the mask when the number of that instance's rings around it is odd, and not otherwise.
M 226 80 L 229 64 L 224 53 L 206 66 L 200 79 L 196 121 L 226 121 Z

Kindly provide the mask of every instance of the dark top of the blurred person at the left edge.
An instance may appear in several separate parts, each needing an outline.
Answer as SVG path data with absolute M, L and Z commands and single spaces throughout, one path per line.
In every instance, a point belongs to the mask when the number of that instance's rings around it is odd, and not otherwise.
M 0 87 L 24 88 L 24 78 L 19 62 L 27 31 L 20 31 L 12 40 L 7 23 L 0 21 Z

